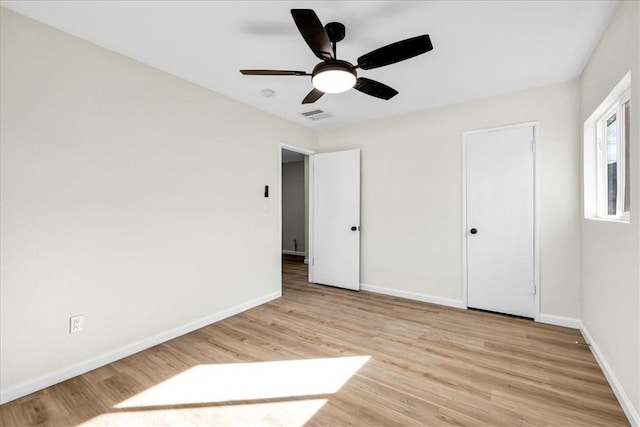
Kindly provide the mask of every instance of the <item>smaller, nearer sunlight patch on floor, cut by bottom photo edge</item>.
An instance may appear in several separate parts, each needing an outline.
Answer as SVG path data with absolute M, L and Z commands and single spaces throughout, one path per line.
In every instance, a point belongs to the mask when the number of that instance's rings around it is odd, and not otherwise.
M 304 426 L 327 399 L 242 405 L 217 404 L 197 408 L 145 409 L 111 412 L 84 424 L 94 426 Z

